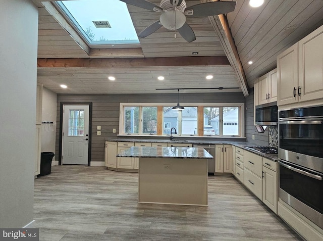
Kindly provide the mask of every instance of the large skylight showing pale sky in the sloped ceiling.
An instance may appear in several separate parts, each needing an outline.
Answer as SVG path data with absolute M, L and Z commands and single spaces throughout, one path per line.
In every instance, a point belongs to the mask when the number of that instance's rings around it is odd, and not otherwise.
M 119 0 L 56 3 L 89 45 L 139 43 L 127 5 Z

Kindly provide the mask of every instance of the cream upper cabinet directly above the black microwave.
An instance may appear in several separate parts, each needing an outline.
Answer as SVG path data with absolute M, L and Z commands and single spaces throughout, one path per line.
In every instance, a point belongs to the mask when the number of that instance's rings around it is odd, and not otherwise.
M 277 101 L 277 69 L 259 77 L 255 92 L 258 105 Z

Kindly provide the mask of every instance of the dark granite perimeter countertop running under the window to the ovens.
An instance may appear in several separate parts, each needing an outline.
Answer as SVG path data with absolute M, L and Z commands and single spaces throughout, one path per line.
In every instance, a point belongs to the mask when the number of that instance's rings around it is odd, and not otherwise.
M 265 154 L 261 152 L 257 152 L 254 150 L 250 150 L 247 147 L 250 146 L 259 146 L 255 143 L 250 143 L 246 141 L 230 141 L 230 140 L 181 140 L 181 139 L 176 139 L 174 141 L 167 140 L 167 139 L 136 139 L 136 138 L 106 138 L 106 141 L 118 141 L 118 142 L 152 142 L 152 143 L 192 143 L 194 144 L 231 144 L 235 147 L 239 147 L 245 151 L 254 153 L 256 155 L 259 155 L 261 157 L 270 159 L 272 161 L 278 162 L 278 155 L 277 154 Z

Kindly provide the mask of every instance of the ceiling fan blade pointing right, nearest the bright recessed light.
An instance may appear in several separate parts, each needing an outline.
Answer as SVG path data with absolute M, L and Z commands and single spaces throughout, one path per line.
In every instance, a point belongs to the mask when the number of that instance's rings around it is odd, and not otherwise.
M 187 17 L 208 17 L 232 12 L 235 7 L 236 2 L 208 2 L 188 7 L 185 9 L 184 14 Z

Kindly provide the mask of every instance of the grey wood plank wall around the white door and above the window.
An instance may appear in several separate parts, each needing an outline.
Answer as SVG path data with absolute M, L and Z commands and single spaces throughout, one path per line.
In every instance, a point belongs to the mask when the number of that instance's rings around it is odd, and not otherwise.
M 61 102 L 92 102 L 92 147 L 91 161 L 104 161 L 104 138 L 117 137 L 119 133 L 120 103 L 170 103 L 176 105 L 174 94 L 58 94 L 56 153 L 59 153 L 60 105 Z M 253 100 L 253 95 L 252 98 Z M 184 103 L 244 103 L 242 92 L 226 93 L 180 93 L 180 104 Z M 253 117 L 252 117 L 253 118 Z M 96 135 L 96 126 L 101 126 L 101 135 Z M 113 129 L 116 133 L 113 133 Z M 58 155 L 55 159 L 58 160 Z

